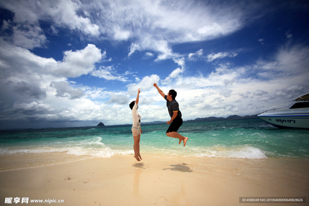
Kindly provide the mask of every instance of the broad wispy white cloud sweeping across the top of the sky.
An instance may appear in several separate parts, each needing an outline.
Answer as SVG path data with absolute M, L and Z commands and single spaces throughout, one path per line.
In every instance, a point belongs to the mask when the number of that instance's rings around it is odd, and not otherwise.
M 52 23 L 54 32 L 69 28 L 90 38 L 101 35 L 111 40 L 136 39 L 128 56 L 137 50 L 151 50 L 159 54 L 157 61 L 180 57 L 171 50 L 173 43 L 209 40 L 239 30 L 246 18 L 243 15 L 247 14 L 243 5 L 187 1 L 177 1 L 173 6 L 160 1 L 70 0 L 6 1 L 2 5 L 15 13 L 15 23 L 32 27 L 29 31 L 33 34 L 20 32 L 26 35 L 23 38 L 33 37 L 27 48 L 45 43 L 46 37 L 36 27 L 44 20 Z

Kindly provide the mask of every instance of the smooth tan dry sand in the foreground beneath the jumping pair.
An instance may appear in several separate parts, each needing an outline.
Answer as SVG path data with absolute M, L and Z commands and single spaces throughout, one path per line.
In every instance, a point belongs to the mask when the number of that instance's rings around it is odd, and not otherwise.
M 1 205 L 8 197 L 29 197 L 29 205 L 252 205 L 239 197 L 308 197 L 307 171 L 304 159 L 90 158 L 0 172 Z M 308 200 L 269 203 L 291 204 Z

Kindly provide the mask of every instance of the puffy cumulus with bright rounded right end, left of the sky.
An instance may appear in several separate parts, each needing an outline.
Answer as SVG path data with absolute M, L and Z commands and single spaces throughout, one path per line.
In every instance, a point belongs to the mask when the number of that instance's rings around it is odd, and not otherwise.
M 95 63 L 105 58 L 105 53 L 94 44 L 84 49 L 65 51 L 62 61 L 39 57 L 29 50 L 12 46 L 0 40 L 1 68 L 5 77 L 17 74 L 45 74 L 59 78 L 78 77 L 88 74 L 95 68 Z

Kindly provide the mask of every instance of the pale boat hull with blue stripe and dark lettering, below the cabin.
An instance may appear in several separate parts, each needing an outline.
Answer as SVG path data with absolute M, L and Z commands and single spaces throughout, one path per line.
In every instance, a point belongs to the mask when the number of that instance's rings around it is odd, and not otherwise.
M 309 128 L 309 108 L 268 111 L 258 117 L 278 128 Z

